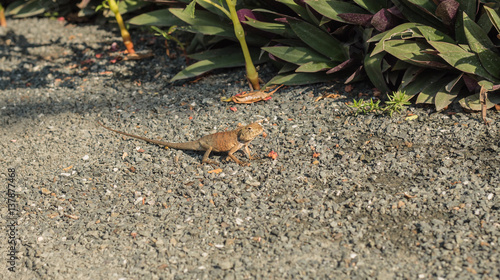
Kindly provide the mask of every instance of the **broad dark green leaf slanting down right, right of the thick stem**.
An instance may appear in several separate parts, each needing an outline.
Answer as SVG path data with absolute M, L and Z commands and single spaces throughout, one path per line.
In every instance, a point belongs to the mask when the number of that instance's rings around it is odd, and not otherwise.
M 288 22 L 295 34 L 314 50 L 333 61 L 342 62 L 347 60 L 344 45 L 332 35 L 304 21 L 290 19 Z

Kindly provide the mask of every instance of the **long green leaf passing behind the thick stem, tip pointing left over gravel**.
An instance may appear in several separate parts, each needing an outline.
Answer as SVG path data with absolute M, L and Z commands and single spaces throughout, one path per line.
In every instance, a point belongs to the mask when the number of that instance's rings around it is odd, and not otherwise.
M 250 55 L 252 57 L 253 63 L 255 64 L 263 63 L 268 60 L 267 56 L 259 59 L 260 49 L 258 48 L 250 48 Z M 198 54 L 193 54 L 189 57 L 204 60 L 191 64 L 184 70 L 177 73 L 172 78 L 172 82 L 196 77 L 214 69 L 245 66 L 243 53 L 241 52 L 241 49 L 237 47 L 210 50 Z

